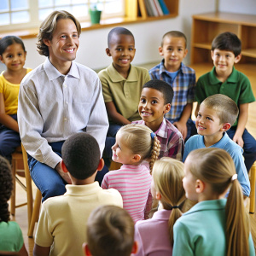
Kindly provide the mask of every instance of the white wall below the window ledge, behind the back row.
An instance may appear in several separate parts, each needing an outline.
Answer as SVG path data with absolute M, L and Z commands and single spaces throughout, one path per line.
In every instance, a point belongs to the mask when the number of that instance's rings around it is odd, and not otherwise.
M 144 63 L 160 61 L 158 47 L 164 33 L 171 30 L 180 30 L 186 34 L 188 41 L 190 41 L 192 15 L 214 10 L 215 0 L 180 0 L 179 15 L 174 19 L 125 26 L 131 30 L 135 37 L 137 51 L 132 64 L 139 66 Z M 76 61 L 93 69 L 107 67 L 112 61 L 111 57 L 108 57 L 105 53 L 108 32 L 111 29 L 112 27 L 108 27 L 82 32 Z M 39 55 L 36 51 L 36 42 L 37 38 L 24 40 L 27 51 L 26 67 L 34 68 L 44 61 L 44 56 Z M 190 44 L 188 44 L 188 49 L 190 49 Z M 187 55 L 184 60 L 185 63 L 189 63 L 189 58 L 190 55 Z M 0 69 L 3 68 L 2 65 Z

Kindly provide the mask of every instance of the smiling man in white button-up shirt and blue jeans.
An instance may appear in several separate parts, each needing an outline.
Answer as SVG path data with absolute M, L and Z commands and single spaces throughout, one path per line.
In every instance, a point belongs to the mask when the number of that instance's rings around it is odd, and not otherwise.
M 66 183 L 71 183 L 61 170 L 64 141 L 74 133 L 88 132 L 103 151 L 108 131 L 101 81 L 90 68 L 73 61 L 80 33 L 73 15 L 51 13 L 40 26 L 37 44 L 39 54 L 47 58 L 20 84 L 20 138 L 43 201 L 63 195 Z

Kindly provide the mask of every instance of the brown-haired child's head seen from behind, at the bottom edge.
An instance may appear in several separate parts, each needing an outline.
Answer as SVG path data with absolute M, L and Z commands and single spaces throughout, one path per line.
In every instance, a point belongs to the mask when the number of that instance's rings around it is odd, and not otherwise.
M 128 212 L 120 207 L 97 207 L 87 223 L 86 256 L 130 256 L 137 253 L 134 223 Z

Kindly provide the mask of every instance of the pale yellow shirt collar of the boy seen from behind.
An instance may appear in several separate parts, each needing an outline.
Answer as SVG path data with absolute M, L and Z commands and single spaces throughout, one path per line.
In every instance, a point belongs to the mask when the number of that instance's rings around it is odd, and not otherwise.
M 94 182 L 86 185 L 67 184 L 66 189 L 67 192 L 64 195 L 81 196 L 95 194 L 101 187 L 98 182 Z

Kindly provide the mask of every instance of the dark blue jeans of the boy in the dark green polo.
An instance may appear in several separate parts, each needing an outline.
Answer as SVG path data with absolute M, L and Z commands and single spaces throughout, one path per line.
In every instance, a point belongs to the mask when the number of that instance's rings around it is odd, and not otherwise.
M 227 134 L 229 135 L 230 139 L 233 139 L 236 133 L 236 127 L 231 127 Z M 256 140 L 254 137 L 247 131 L 244 130 L 242 139 L 244 142 L 243 145 L 243 156 L 244 156 L 244 163 L 247 167 L 247 172 L 250 171 L 251 167 L 253 166 L 254 161 L 256 160 Z

